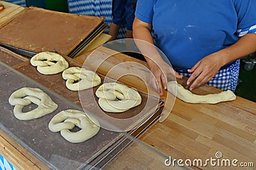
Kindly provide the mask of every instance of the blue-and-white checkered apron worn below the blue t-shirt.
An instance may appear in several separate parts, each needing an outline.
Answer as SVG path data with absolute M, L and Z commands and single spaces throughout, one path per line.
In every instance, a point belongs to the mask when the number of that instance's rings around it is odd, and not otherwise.
M 207 82 L 206 84 L 218 89 L 222 89 L 224 91 L 229 89 L 234 92 L 236 90 L 239 76 L 239 66 L 240 60 L 238 59 L 232 65 L 217 72 L 215 77 L 213 77 L 211 81 Z M 191 73 L 188 72 L 178 72 L 186 77 L 189 77 L 191 75 Z

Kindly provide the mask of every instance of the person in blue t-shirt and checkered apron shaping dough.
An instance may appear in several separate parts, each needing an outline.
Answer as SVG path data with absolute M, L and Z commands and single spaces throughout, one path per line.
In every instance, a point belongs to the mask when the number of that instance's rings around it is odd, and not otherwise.
M 177 78 L 189 77 L 190 90 L 206 83 L 235 91 L 239 59 L 256 51 L 255 33 L 256 0 L 138 0 L 133 23 L 133 37 L 155 44 Z M 172 68 L 156 49 L 138 47 L 150 55 L 163 95 Z

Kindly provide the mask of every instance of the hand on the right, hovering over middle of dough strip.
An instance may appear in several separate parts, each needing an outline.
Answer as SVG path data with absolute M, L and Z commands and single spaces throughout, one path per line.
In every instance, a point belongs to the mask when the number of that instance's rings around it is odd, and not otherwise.
M 188 70 L 189 73 L 192 73 L 189 77 L 187 84 L 190 84 L 192 81 L 195 81 L 190 85 L 189 90 L 198 88 L 202 84 L 209 82 L 216 73 L 220 70 L 222 64 L 220 56 L 216 53 L 210 54 L 205 58 L 198 61 L 191 69 Z

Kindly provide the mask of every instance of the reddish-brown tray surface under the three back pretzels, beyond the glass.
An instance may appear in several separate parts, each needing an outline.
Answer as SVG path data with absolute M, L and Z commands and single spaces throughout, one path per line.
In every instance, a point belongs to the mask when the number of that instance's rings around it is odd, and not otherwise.
M 74 61 L 73 59 L 70 59 L 68 57 L 64 58 L 68 61 L 69 66 L 79 66 L 81 67 L 82 65 L 80 63 L 77 63 L 76 61 Z M 92 89 L 86 89 L 83 91 L 70 91 L 65 83 L 66 81 L 62 78 L 61 73 L 57 73 L 54 75 L 43 75 L 41 73 L 39 73 L 36 70 L 35 66 L 32 66 L 30 64 L 30 61 L 26 61 L 20 65 L 17 65 L 14 67 L 17 71 L 19 71 L 20 73 L 30 77 L 31 79 L 33 79 L 34 81 L 42 84 L 43 86 L 51 89 L 52 91 L 54 91 L 55 93 L 58 93 L 59 95 L 61 95 L 62 97 L 67 98 L 68 100 L 70 100 L 71 102 L 73 102 L 74 104 L 77 104 L 79 106 L 83 106 L 83 108 L 86 111 L 89 112 L 93 112 L 95 114 L 97 114 L 97 116 L 99 116 L 100 118 L 104 119 L 105 116 L 102 116 L 102 114 L 99 114 L 100 112 L 104 113 L 106 115 L 106 117 L 111 117 L 111 118 L 115 118 L 116 119 L 120 119 L 120 120 L 127 120 L 124 124 L 124 122 L 120 121 L 119 125 L 116 125 L 117 127 L 120 128 L 124 128 L 124 127 L 133 127 L 135 128 L 136 125 L 140 124 L 143 120 L 147 119 L 147 117 L 152 114 L 152 112 L 154 112 L 154 109 L 156 110 L 157 105 L 149 105 L 148 107 L 145 108 L 145 105 L 148 102 L 148 99 L 150 101 L 153 101 L 154 104 L 158 104 L 159 102 L 163 102 L 160 98 L 154 97 L 154 96 L 150 96 L 147 93 L 143 93 L 141 91 L 139 91 L 141 98 L 142 98 L 142 102 L 140 105 L 138 105 L 137 107 L 134 107 L 132 109 L 129 109 L 129 111 L 125 111 L 125 112 L 121 112 L 121 113 L 113 113 L 113 112 L 104 112 L 100 109 L 99 105 L 98 105 L 98 98 L 95 95 L 95 91 L 97 90 L 97 88 L 99 88 L 99 86 L 96 86 Z M 100 75 L 101 79 L 106 79 L 106 77 L 104 77 L 104 75 Z M 113 81 L 113 79 L 107 78 L 109 82 Z M 141 115 L 141 118 L 138 118 L 140 120 L 129 120 L 129 118 L 133 118 L 134 116 L 137 116 L 141 111 L 143 111 L 143 115 Z M 147 115 L 145 115 L 147 114 Z M 108 120 L 106 119 L 105 121 L 108 121 L 108 123 L 113 123 L 112 120 Z M 128 123 L 128 124 L 127 124 Z

